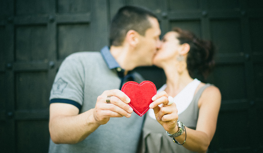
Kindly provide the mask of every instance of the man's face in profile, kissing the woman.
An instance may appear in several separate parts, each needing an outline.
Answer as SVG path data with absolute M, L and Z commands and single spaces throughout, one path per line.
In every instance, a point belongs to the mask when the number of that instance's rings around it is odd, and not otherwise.
M 140 43 L 138 45 L 138 54 L 140 66 L 150 66 L 153 62 L 153 55 L 160 48 L 161 29 L 156 18 L 149 17 L 152 27 L 146 30 L 144 36 L 140 36 Z

